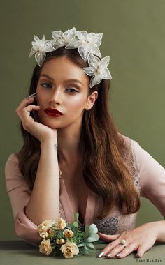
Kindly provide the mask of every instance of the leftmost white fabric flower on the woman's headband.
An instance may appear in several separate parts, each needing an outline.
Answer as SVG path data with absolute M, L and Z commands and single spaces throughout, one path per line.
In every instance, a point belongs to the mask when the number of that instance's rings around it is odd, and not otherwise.
M 55 50 L 54 45 L 55 40 L 45 40 L 45 36 L 40 40 L 37 36 L 34 35 L 34 40 L 32 41 L 32 47 L 29 54 L 29 57 L 35 54 L 35 59 L 38 63 L 38 66 L 41 66 L 45 60 L 46 52 L 52 52 Z

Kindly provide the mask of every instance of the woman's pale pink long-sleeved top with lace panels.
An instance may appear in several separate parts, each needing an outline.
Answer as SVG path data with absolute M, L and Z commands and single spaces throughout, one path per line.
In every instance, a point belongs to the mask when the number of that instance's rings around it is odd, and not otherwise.
M 157 206 L 157 209 L 165 216 L 165 169 L 155 161 L 137 142 L 125 137 L 130 145 L 130 154 L 126 154 L 127 164 L 134 178 L 134 183 L 139 195 L 150 199 Z M 129 159 L 127 159 L 127 157 Z M 134 170 L 133 170 L 134 169 Z M 15 220 L 15 232 L 25 241 L 38 246 L 40 236 L 37 226 L 31 222 L 24 212 L 31 192 L 24 177 L 18 168 L 17 155 L 11 154 L 6 162 L 6 189 L 10 197 L 11 207 Z M 69 196 L 62 179 L 62 194 L 60 195 L 60 215 L 67 222 L 73 222 L 74 213 L 69 200 Z M 91 190 L 88 190 L 88 199 L 84 223 L 94 222 L 100 232 L 105 234 L 118 234 L 128 229 L 134 228 L 136 215 L 121 215 L 117 209 L 113 209 L 104 220 L 97 220 L 96 214 L 102 207 L 102 199 Z

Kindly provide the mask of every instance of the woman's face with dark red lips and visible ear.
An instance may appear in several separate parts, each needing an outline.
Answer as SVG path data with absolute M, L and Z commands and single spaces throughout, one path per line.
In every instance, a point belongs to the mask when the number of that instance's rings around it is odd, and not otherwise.
M 89 77 L 66 57 L 57 57 L 44 63 L 36 88 L 41 123 L 50 128 L 80 126 L 84 110 L 92 108 L 97 92 L 89 95 Z M 57 109 L 61 116 L 50 116 L 44 110 Z

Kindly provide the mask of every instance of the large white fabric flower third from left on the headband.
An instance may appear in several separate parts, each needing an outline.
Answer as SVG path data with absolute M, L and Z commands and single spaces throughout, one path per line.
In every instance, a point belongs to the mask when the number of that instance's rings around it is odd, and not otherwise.
M 76 31 L 76 36 L 73 38 L 66 49 L 78 48 L 78 52 L 82 59 L 87 61 L 89 54 L 95 54 L 101 57 L 99 46 L 101 45 L 103 33 L 87 33 L 87 31 Z

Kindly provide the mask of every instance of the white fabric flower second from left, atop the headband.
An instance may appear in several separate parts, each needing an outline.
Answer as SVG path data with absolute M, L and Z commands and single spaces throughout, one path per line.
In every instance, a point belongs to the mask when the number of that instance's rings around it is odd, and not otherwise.
M 52 31 L 52 38 L 55 39 L 55 49 L 67 45 L 71 39 L 75 36 L 76 29 L 68 29 L 64 33 L 62 31 Z

